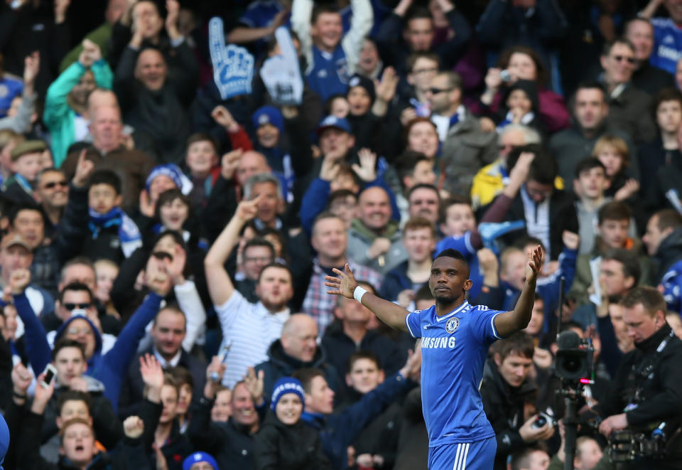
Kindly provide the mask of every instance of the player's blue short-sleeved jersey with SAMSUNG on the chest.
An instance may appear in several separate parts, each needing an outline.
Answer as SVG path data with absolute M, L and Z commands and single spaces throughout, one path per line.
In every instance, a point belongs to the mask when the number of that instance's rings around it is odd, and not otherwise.
M 502 339 L 494 322 L 501 313 L 464 301 L 444 316 L 431 306 L 405 317 L 408 333 L 422 338 L 421 402 L 429 447 L 495 435 L 479 388 L 488 348 Z

